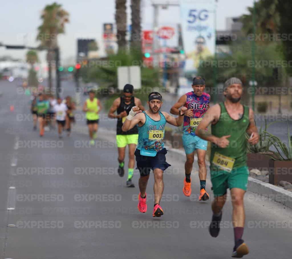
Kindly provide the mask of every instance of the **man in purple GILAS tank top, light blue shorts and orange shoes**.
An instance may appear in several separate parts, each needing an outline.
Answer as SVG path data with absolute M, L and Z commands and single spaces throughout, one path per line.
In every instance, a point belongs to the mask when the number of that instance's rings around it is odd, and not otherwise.
M 204 117 L 204 113 L 209 108 L 210 95 L 204 92 L 205 79 L 203 77 L 194 77 L 192 88 L 193 91 L 181 96 L 178 102 L 171 108 L 170 112 L 178 115 L 178 109 L 180 107 L 185 106 L 188 109 L 185 113 L 183 123 L 183 146 L 187 157 L 185 162 L 183 194 L 190 196 L 192 193 L 191 172 L 194 163 L 194 154 L 197 151 L 200 179 L 199 201 L 206 201 L 209 199 L 209 195 L 205 190 L 207 177 L 205 157 L 208 142 L 196 136 L 195 130 Z

